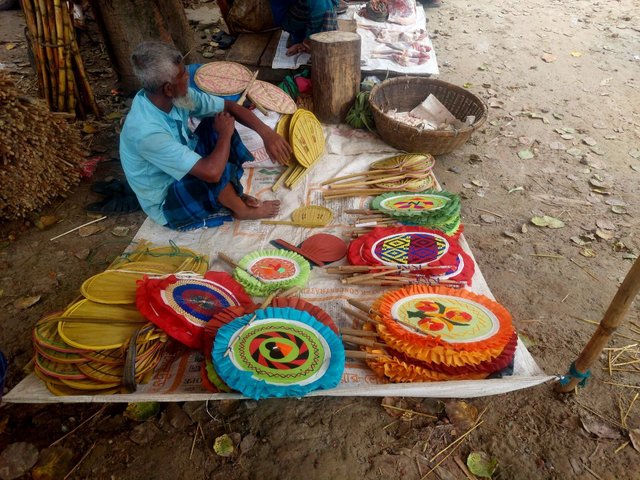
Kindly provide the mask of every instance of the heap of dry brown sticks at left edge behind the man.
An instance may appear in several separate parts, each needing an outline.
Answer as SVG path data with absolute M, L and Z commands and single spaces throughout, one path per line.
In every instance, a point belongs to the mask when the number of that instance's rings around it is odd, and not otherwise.
M 80 132 L 0 70 L 0 219 L 18 219 L 80 181 Z

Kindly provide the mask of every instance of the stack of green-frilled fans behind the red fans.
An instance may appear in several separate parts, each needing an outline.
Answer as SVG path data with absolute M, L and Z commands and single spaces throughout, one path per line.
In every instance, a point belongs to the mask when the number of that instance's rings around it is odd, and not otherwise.
M 405 225 L 434 228 L 447 235 L 460 228 L 460 196 L 444 190 L 383 193 L 371 208 Z

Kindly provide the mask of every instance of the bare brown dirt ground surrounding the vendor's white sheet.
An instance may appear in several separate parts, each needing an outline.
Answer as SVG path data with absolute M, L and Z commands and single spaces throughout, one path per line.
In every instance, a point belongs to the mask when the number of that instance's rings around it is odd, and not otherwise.
M 438 157 L 436 174 L 463 194 L 467 239 L 529 350 L 549 374 L 564 373 L 594 330 L 584 320 L 602 317 L 640 251 L 640 6 L 444 0 L 427 15 L 439 78 L 491 107 L 470 143 Z M 19 11 L 0 12 L 0 63 L 33 91 L 20 22 Z M 100 103 L 115 113 L 97 124 L 98 133 L 85 134 L 92 155 L 104 157 L 94 175 L 101 179 L 120 173 L 117 129 L 126 100 L 111 92 L 115 79 L 100 45 L 85 40 L 83 48 Z M 90 219 L 84 207 L 99 197 L 89 185 L 39 212 L 62 220 L 49 230 L 0 224 L 0 349 L 11 363 L 9 389 L 24 376 L 34 323 L 69 303 L 144 220 L 140 213 L 110 217 L 92 236 L 49 241 Z M 541 215 L 565 226 L 534 226 L 530 219 Z M 116 226 L 128 234 L 114 236 Z M 31 296 L 40 299 L 19 309 Z M 612 346 L 636 342 L 640 302 Z M 640 428 L 640 406 L 629 407 L 640 373 L 633 364 L 606 371 L 605 360 L 575 396 L 547 384 L 469 401 L 485 411 L 483 422 L 427 478 L 471 478 L 459 464 L 475 451 L 498 461 L 495 478 L 640 478 L 640 452 L 619 448 L 627 430 Z M 124 405 L 5 404 L 0 452 L 18 441 L 42 450 L 98 412 L 60 442 L 79 464 L 70 478 L 411 480 L 424 478 L 444 457 L 432 461 L 436 453 L 467 430 L 454 401 L 446 411 L 429 399 L 384 401 L 438 419 L 398 418 L 373 398 L 165 404 L 144 423 L 124 417 Z M 194 440 L 198 424 L 203 435 Z M 223 433 L 240 442 L 229 458 L 212 449 Z

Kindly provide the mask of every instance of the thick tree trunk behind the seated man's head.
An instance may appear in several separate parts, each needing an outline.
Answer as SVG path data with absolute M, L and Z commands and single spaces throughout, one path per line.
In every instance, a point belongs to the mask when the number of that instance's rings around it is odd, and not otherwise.
M 125 91 L 139 88 L 131 65 L 131 52 L 139 43 L 160 40 L 183 54 L 195 45 L 181 0 L 91 0 L 91 6 Z

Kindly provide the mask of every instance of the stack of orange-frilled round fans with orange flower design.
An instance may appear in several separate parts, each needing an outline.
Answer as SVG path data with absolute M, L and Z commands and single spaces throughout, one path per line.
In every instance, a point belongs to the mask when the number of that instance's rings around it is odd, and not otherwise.
M 367 364 L 392 382 L 483 379 L 513 362 L 511 315 L 483 295 L 411 286 L 378 298 L 371 317 L 386 347 L 367 347 Z

